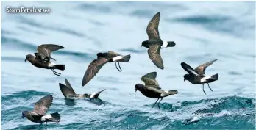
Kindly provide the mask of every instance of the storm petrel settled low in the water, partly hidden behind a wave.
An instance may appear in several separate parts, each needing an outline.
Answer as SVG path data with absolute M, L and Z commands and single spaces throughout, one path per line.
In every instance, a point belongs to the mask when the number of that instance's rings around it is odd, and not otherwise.
M 65 85 L 59 83 L 60 86 L 60 90 L 63 93 L 63 95 L 65 96 L 65 98 L 99 98 L 99 94 L 102 93 L 104 90 L 101 90 L 99 92 L 96 93 L 92 93 L 92 94 L 76 94 L 73 90 L 73 88 L 71 87 L 71 84 L 68 82 L 68 79 L 65 79 Z

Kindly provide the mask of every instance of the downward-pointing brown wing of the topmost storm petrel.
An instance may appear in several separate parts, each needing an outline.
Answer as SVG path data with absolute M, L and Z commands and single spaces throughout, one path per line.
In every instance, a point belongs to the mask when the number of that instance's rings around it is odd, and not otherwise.
M 163 59 L 160 55 L 160 46 L 157 44 L 149 46 L 148 54 L 154 65 L 163 70 Z

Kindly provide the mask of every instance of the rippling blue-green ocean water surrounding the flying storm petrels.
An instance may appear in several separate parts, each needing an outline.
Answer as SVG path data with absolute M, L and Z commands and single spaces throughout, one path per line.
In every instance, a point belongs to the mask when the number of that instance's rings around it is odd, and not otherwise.
M 48 8 L 50 13 L 7 13 L 7 7 Z M 161 50 L 164 70 L 151 62 L 141 42 L 160 12 L 160 37 L 176 42 Z M 37 46 L 53 43 L 65 64 L 61 76 L 24 62 Z M 82 87 L 82 77 L 98 52 L 131 54 L 130 62 L 105 65 Z M 186 62 L 195 68 L 218 59 L 207 74 L 219 79 L 202 85 L 183 81 Z M 141 76 L 156 71 L 164 90 L 177 95 L 156 99 L 135 93 Z M 106 89 L 99 100 L 65 101 L 65 78 L 77 93 Z M 21 112 L 45 95 L 48 113 L 60 123 L 32 123 Z M 255 1 L 1 1 L 1 129 L 255 129 Z

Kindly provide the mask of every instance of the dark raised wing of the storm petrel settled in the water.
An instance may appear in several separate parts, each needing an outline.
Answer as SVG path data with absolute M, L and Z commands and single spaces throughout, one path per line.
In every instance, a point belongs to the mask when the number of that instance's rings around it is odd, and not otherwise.
M 61 92 L 63 93 L 63 95 L 65 97 L 76 95 L 76 93 L 74 92 L 73 88 L 71 87 L 71 84 L 69 84 L 67 79 L 65 79 L 65 85 L 59 83 L 59 86 L 60 86 Z

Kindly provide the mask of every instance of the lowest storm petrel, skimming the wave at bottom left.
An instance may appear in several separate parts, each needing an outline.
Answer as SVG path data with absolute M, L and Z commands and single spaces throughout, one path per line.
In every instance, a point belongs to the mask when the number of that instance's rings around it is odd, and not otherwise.
M 58 112 L 51 113 L 46 115 L 47 110 L 52 104 L 52 95 L 46 95 L 41 98 L 38 102 L 35 103 L 33 111 L 24 111 L 22 112 L 21 118 L 27 118 L 28 120 L 34 123 L 44 123 L 46 122 L 60 122 L 60 114 Z

